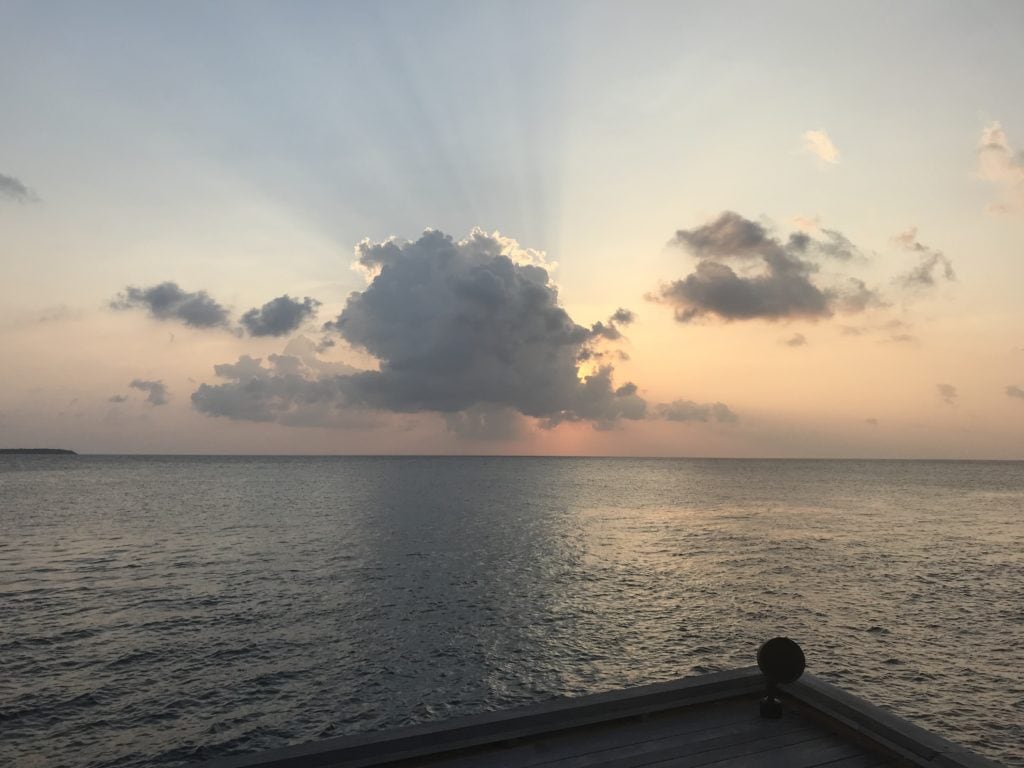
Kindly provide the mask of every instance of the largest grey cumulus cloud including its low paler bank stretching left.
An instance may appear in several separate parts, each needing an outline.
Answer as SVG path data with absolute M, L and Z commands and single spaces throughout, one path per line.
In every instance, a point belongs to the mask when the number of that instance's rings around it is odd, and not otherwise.
M 484 439 L 520 434 L 524 417 L 544 427 L 681 420 L 678 409 L 649 407 L 635 383 L 616 382 L 606 364 L 607 345 L 622 339 L 633 313 L 620 308 L 590 327 L 578 324 L 560 306 L 541 255 L 514 241 L 480 230 L 456 241 L 427 230 L 415 242 L 360 243 L 356 264 L 366 289 L 324 328 L 372 355 L 376 370 L 323 362 L 323 342 L 300 337 L 266 364 L 243 356 L 217 366 L 222 381 L 201 385 L 195 408 L 296 425 L 425 412 Z M 724 407 L 708 408 L 728 421 Z

